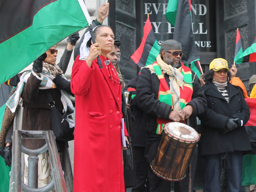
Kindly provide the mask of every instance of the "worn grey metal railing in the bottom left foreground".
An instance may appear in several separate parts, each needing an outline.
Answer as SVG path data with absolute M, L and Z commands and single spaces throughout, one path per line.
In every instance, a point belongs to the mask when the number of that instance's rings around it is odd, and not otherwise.
M 46 139 L 46 144 L 36 150 L 30 150 L 22 145 L 22 138 Z M 15 130 L 13 132 L 12 144 L 12 168 L 10 178 L 10 192 L 47 192 L 55 188 L 56 192 L 66 192 L 61 163 L 58 155 L 55 137 L 52 131 L 25 131 Z M 38 155 L 49 150 L 50 161 L 53 167 L 53 180 L 46 186 L 37 188 L 38 177 Z M 28 186 L 22 182 L 22 152 L 29 155 L 28 158 Z

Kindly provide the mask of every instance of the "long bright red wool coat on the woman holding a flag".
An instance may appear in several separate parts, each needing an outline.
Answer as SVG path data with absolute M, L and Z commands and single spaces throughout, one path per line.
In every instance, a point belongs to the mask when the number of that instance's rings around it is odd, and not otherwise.
M 72 69 L 71 90 L 76 96 L 74 192 L 124 191 L 120 129 L 122 86 L 110 79 L 104 64 L 106 59 L 100 58 L 101 69 L 97 59 L 90 68 L 79 56 Z M 112 63 L 109 67 L 118 79 Z

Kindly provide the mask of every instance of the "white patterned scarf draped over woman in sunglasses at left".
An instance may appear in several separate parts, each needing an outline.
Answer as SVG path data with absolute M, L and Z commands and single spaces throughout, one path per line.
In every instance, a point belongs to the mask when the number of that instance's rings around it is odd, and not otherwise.
M 34 76 L 37 76 L 34 73 L 34 71 L 24 72 L 22 76 L 20 76 L 20 81 L 17 85 L 17 90 L 11 95 L 9 100 L 6 102 L 6 105 L 10 108 L 12 113 L 15 112 L 15 109 L 18 104 L 21 105 L 23 103 L 23 99 L 21 97 L 22 91 L 24 90 L 24 86 L 27 83 L 31 73 Z M 52 81 L 54 78 L 55 77 L 52 74 L 50 74 L 50 72 L 44 67 L 42 69 L 42 73 L 40 73 L 39 79 L 41 80 L 41 83 L 40 83 L 39 89 L 56 88 L 56 85 Z M 65 78 L 65 77 L 62 75 L 62 78 Z M 63 110 L 64 110 L 63 118 L 65 118 L 69 122 L 70 128 L 72 128 L 75 126 L 75 123 L 71 118 L 72 117 L 71 115 L 74 113 L 74 106 L 72 104 L 72 101 L 70 100 L 69 94 L 65 90 L 60 90 L 60 92 L 61 92 L 60 100 L 62 102 Z

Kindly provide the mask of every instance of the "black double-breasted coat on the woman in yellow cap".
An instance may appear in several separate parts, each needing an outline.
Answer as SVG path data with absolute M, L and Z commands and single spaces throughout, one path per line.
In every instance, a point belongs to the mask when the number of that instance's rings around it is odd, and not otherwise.
M 205 84 L 203 89 L 207 99 L 207 109 L 199 116 L 202 155 L 251 150 L 244 127 L 249 120 L 250 110 L 239 88 L 228 82 L 229 103 L 214 83 Z M 228 118 L 239 118 L 240 126 L 231 132 L 222 134 L 220 130 L 225 128 Z

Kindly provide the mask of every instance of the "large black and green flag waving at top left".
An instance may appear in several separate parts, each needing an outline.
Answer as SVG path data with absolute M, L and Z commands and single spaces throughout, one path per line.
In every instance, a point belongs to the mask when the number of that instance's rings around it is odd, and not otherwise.
M 83 0 L 2 0 L 0 84 L 88 22 Z

